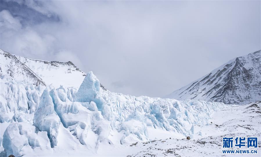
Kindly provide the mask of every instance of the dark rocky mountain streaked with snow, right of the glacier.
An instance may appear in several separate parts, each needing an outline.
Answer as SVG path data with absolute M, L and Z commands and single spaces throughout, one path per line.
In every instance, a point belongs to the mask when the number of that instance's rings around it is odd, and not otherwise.
M 166 98 L 246 104 L 261 100 L 261 50 L 236 57 Z

